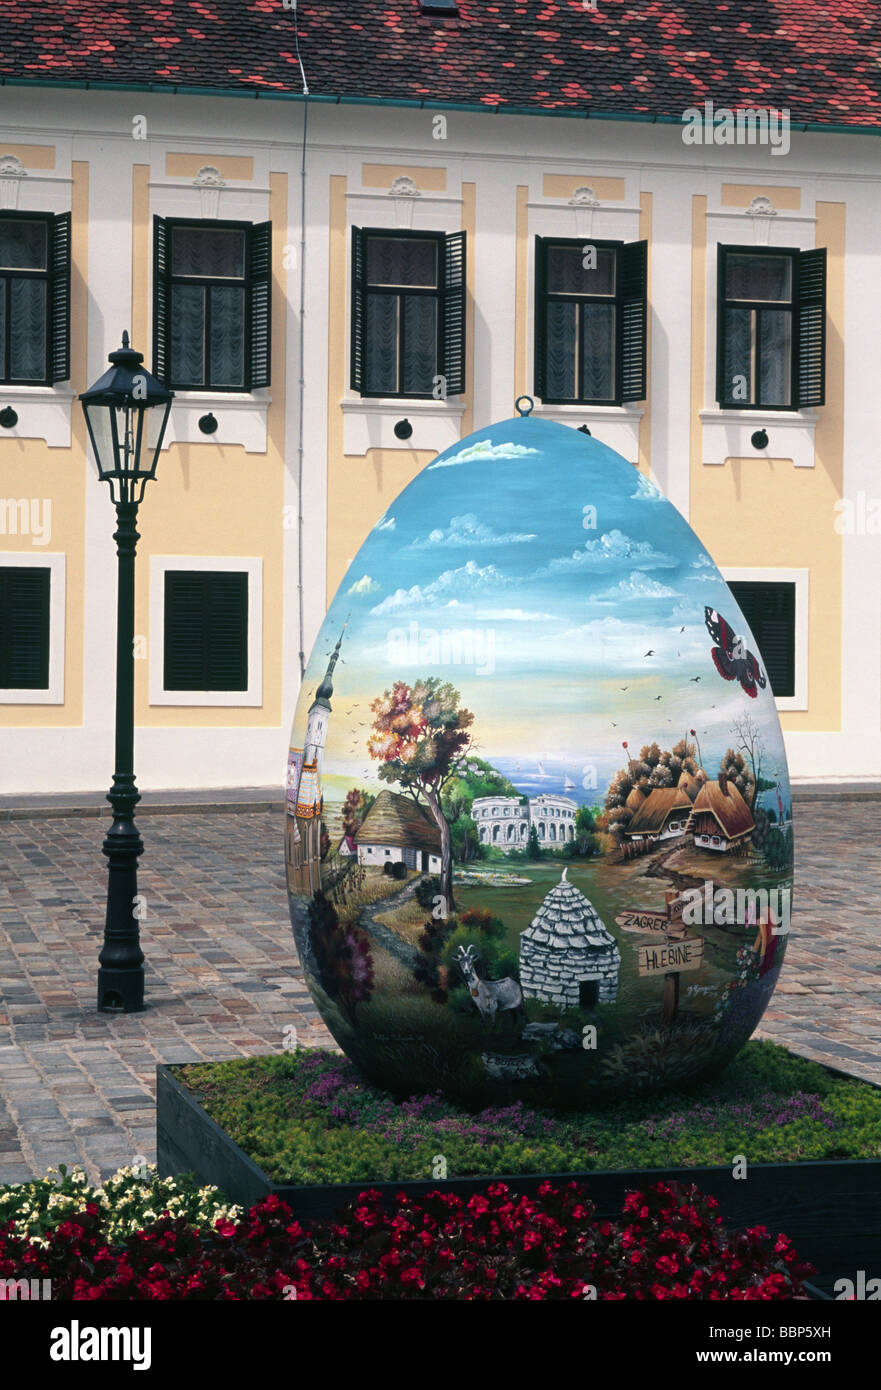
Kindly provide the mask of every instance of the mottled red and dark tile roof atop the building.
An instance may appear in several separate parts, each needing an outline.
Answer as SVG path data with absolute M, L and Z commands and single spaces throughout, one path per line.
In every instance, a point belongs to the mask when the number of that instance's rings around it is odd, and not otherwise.
M 881 129 L 878 0 L 299 0 L 318 97 L 680 120 L 788 107 Z M 3 0 L 0 81 L 302 92 L 282 0 Z

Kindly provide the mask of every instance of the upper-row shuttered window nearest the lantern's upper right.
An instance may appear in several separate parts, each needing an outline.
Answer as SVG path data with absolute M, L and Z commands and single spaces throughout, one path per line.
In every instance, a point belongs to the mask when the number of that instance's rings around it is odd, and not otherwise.
M 270 385 L 271 222 L 153 218 L 153 371 L 182 391 Z

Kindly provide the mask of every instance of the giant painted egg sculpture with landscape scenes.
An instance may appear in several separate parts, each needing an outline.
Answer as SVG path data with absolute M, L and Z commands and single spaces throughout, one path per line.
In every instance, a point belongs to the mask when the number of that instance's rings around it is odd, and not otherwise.
M 759 646 L 657 488 L 528 416 L 364 541 L 288 762 L 293 935 L 397 1095 L 589 1105 L 730 1062 L 784 959 L 784 742 Z

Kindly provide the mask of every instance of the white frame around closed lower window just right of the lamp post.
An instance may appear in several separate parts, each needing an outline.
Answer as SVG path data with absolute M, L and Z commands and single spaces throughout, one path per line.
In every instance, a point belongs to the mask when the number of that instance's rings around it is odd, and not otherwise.
M 247 689 L 165 689 L 165 570 L 233 570 L 247 574 Z M 151 555 L 147 651 L 150 705 L 204 705 L 228 709 L 253 709 L 263 705 L 263 559 L 238 555 Z

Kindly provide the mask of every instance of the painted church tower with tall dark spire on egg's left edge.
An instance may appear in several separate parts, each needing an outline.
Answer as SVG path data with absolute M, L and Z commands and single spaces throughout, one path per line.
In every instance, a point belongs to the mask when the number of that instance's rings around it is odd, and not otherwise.
M 321 887 L 321 763 L 331 717 L 334 669 L 339 660 L 346 628 L 331 652 L 324 680 L 306 717 L 303 748 L 292 748 L 288 758 L 288 815 L 285 840 L 288 859 L 288 887 L 292 892 L 311 897 Z

